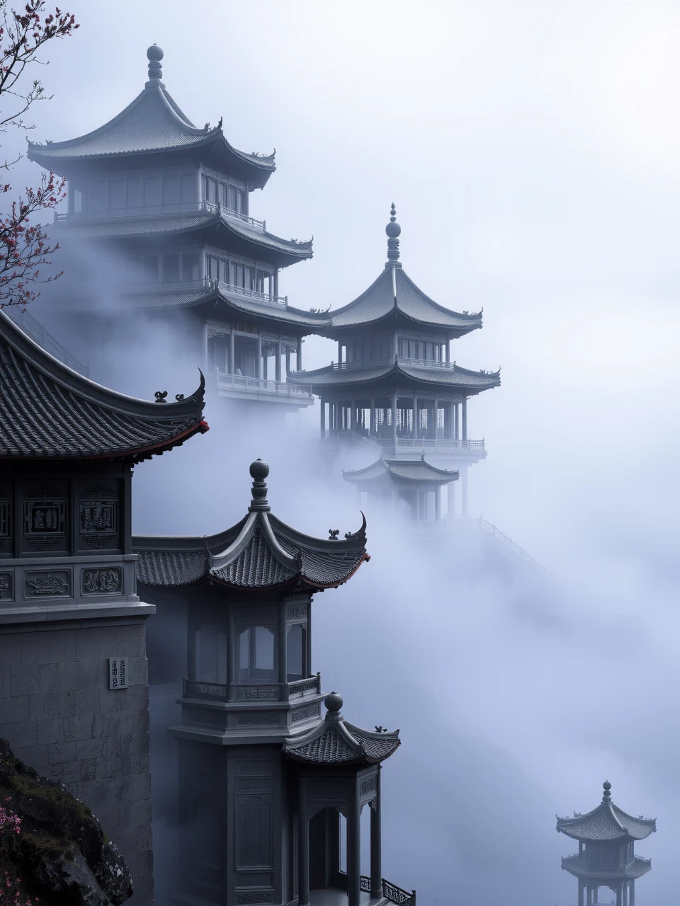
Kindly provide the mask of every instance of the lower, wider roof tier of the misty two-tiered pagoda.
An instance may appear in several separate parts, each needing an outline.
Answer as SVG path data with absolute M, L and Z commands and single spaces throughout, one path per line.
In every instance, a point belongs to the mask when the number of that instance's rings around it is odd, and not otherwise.
M 388 378 L 393 386 L 403 385 L 403 378 L 410 378 L 419 384 L 435 385 L 446 390 L 460 388 L 467 394 L 500 386 L 500 371 L 470 371 L 456 364 L 427 367 L 398 359 L 384 364 L 352 365 L 347 368 L 326 365 L 316 371 L 295 371 L 288 375 L 287 380 L 311 384 L 315 393 L 322 393 L 326 388 L 359 387 L 374 381 L 386 384 Z

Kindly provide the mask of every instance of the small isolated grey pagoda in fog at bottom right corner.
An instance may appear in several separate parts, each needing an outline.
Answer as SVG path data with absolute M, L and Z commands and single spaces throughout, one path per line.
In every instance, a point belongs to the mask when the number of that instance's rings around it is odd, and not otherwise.
M 597 906 L 597 892 L 607 887 L 617 895 L 617 906 L 635 906 L 636 879 L 652 867 L 636 855 L 637 840 L 656 831 L 656 818 L 634 818 L 611 800 L 605 781 L 602 802 L 592 812 L 559 818 L 557 829 L 578 840 L 578 853 L 562 859 L 562 868 L 578 878 L 578 906 Z

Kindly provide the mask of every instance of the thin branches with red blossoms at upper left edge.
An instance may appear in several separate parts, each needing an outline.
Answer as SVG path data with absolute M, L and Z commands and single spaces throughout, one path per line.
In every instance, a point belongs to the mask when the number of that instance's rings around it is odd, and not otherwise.
M 36 54 L 54 38 L 64 38 L 78 28 L 75 17 L 58 7 L 45 14 L 45 0 L 28 0 L 17 12 L 0 0 L 0 131 L 29 130 L 24 114 L 35 101 L 49 100 L 39 79 L 26 82 L 24 71 L 32 63 L 44 65 Z M 21 157 L 21 156 L 20 156 Z M 0 170 L 12 169 L 17 160 L 0 163 Z M 61 274 L 41 276 L 41 267 L 51 265 L 50 255 L 59 247 L 50 245 L 44 226 L 34 215 L 54 207 L 65 197 L 66 180 L 53 173 L 43 174 L 40 183 L 26 187 L 0 216 L 0 308 L 25 307 L 39 293 L 35 284 L 49 283 Z M 12 191 L 9 182 L 0 183 L 0 195 Z

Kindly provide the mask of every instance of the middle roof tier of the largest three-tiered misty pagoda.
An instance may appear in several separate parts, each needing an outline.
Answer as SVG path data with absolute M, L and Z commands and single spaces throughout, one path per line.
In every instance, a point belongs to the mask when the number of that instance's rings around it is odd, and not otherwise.
M 269 248 L 287 256 L 287 263 L 312 257 L 312 240 L 305 242 L 282 239 L 273 233 L 263 232 L 245 220 L 229 217 L 225 211 L 208 207 L 197 212 L 187 211 L 155 217 L 84 217 L 82 220 L 63 221 L 58 231 L 66 230 L 67 236 L 78 239 L 115 239 L 134 236 L 170 236 L 194 230 L 215 228 L 224 230 L 226 237 L 252 243 L 259 248 Z M 289 260 L 288 260 L 289 259 Z

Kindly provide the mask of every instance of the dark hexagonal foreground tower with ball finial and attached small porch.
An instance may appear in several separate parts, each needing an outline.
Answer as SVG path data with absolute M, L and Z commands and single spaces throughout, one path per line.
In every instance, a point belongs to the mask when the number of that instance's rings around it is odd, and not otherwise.
M 381 766 L 400 745 L 398 731 L 345 721 L 342 699 L 325 695 L 312 669 L 313 595 L 369 559 L 365 520 L 344 538 L 297 532 L 270 512 L 268 471 L 252 464 L 248 514 L 227 531 L 133 542 L 141 588 L 157 604 L 151 708 L 154 686 L 174 683 L 178 694 L 179 713 L 160 712 L 152 751 L 154 776 L 170 776 L 171 764 L 179 777 L 186 829 L 169 899 L 414 906 L 413 892 L 382 876 Z

